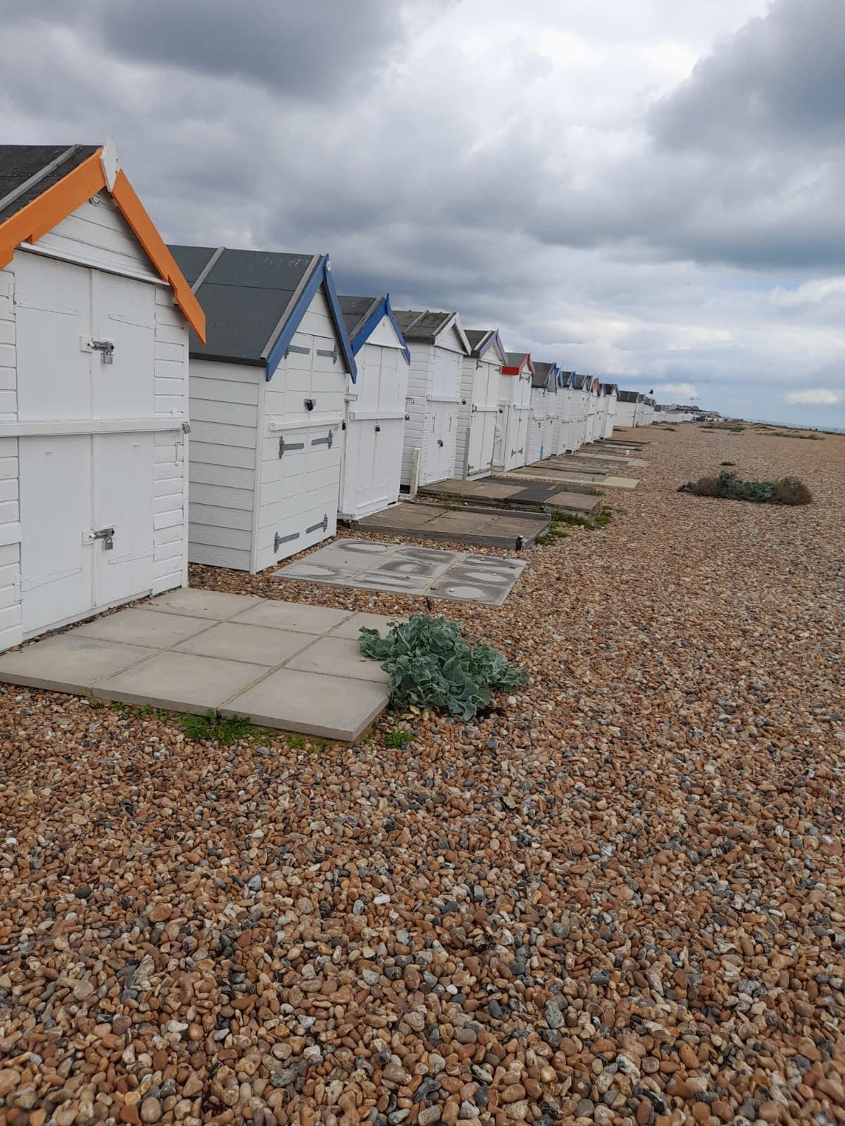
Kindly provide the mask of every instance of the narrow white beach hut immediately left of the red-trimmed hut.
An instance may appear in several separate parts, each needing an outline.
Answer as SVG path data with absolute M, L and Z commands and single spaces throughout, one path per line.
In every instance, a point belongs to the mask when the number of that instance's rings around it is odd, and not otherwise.
M 507 352 L 495 329 L 466 329 L 470 355 L 461 373 L 457 411 L 457 468 L 461 477 L 487 476 L 492 471 L 499 379 Z

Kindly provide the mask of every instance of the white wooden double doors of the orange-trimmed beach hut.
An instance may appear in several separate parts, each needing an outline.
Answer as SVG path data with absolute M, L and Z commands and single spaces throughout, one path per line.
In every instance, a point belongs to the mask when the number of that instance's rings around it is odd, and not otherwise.
M 20 420 L 151 418 L 153 287 L 35 254 L 20 256 L 16 280 Z M 25 634 L 149 591 L 153 435 L 45 435 L 18 446 Z M 110 540 L 92 536 L 112 527 Z

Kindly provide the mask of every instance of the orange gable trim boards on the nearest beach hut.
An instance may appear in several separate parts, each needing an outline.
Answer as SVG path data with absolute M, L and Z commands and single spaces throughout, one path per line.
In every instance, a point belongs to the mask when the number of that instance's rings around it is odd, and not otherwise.
M 47 188 L 37 199 L 0 223 L 0 269 L 12 260 L 16 247 L 21 242 L 37 242 L 48 231 L 80 207 L 86 199 L 96 196 L 106 187 L 106 177 L 100 163 L 101 149 L 83 161 L 72 172 L 64 176 L 52 188 Z M 205 313 L 190 292 L 190 286 L 176 265 L 176 259 L 167 249 L 164 240 L 144 211 L 143 204 L 121 171 L 115 180 L 112 198 L 132 227 L 135 238 L 146 251 L 160 277 L 174 291 L 176 303 L 197 337 L 205 343 Z

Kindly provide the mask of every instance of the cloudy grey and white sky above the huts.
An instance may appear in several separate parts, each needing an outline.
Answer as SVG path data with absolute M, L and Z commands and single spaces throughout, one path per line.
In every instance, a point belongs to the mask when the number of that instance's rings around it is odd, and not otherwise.
M 844 0 L 30 0 L 8 142 L 662 401 L 845 427 Z

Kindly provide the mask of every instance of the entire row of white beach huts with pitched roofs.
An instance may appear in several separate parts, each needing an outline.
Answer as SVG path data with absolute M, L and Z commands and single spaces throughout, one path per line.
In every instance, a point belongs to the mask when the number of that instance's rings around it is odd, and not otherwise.
M 0 650 L 655 405 L 323 253 L 167 245 L 110 142 L 0 146 Z

